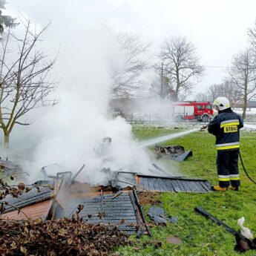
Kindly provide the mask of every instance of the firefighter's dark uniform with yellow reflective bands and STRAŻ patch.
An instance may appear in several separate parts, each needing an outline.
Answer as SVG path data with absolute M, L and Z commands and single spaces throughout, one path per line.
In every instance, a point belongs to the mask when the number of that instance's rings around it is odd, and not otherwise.
M 238 170 L 240 128 L 243 128 L 243 120 L 231 108 L 219 111 L 208 125 L 209 133 L 216 137 L 217 174 L 219 186 L 222 188 L 228 187 L 229 182 L 233 187 L 240 186 Z

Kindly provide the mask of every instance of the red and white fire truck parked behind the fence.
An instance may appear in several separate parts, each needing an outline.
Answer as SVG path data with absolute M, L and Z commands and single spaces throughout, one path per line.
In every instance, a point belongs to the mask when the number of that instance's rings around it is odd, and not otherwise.
M 170 106 L 177 122 L 183 119 L 209 122 L 213 118 L 210 102 L 172 102 Z

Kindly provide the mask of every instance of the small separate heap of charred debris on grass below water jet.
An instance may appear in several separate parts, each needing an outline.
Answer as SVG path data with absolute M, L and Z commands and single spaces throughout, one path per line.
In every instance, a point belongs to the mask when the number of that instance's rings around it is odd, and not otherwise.
M 166 147 L 156 145 L 154 147 L 154 151 L 158 159 L 160 157 L 168 157 L 171 160 L 176 160 L 179 162 L 186 160 L 187 157 L 193 155 L 191 150 L 185 151 L 182 145 L 168 145 Z

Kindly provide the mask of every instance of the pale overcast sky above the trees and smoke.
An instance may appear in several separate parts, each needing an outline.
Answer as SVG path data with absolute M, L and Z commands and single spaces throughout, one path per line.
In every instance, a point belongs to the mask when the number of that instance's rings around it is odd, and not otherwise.
M 9 0 L 7 12 L 18 11 L 33 19 L 47 17 L 51 6 L 40 8 L 36 0 Z M 45 1 L 42 0 L 42 3 Z M 70 4 L 70 12 L 85 5 L 85 15 L 101 19 L 105 24 L 137 33 L 151 40 L 152 50 L 168 36 L 187 36 L 197 46 L 201 62 L 206 65 L 206 76 L 195 88 L 202 92 L 211 84 L 219 83 L 232 56 L 247 46 L 247 28 L 256 19 L 255 0 L 63 0 Z M 54 5 L 55 1 L 51 3 Z M 42 4 L 41 4 L 42 5 Z M 77 5 L 77 6 L 76 6 Z M 60 8 L 61 9 L 61 8 Z M 62 15 L 62 11 L 56 16 Z M 68 19 L 68 17 L 67 17 Z M 78 17 L 79 19 L 79 17 Z M 54 22 L 52 24 L 54 26 Z M 64 29 L 59 28 L 59 29 Z

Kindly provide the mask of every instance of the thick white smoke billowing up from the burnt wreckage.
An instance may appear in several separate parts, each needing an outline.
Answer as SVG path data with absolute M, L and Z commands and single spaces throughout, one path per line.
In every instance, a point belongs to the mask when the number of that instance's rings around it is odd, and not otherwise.
M 60 79 L 59 105 L 34 111 L 33 125 L 16 128 L 10 138 L 19 142 L 13 148 L 31 180 L 39 178 L 42 166 L 53 163 L 64 166 L 64 171 L 76 171 L 85 163 L 79 179 L 92 183 L 102 183 L 104 167 L 146 171 L 150 161 L 134 146 L 131 126 L 108 115 L 111 70 L 122 67 L 124 58 L 102 12 L 92 1 L 79 0 L 10 1 L 9 6 L 13 13 L 35 19 L 39 27 L 50 21 L 43 46 L 50 56 L 60 49 L 53 69 Z M 102 145 L 103 137 L 112 139 L 108 149 Z M 50 174 L 55 171 L 52 168 Z

